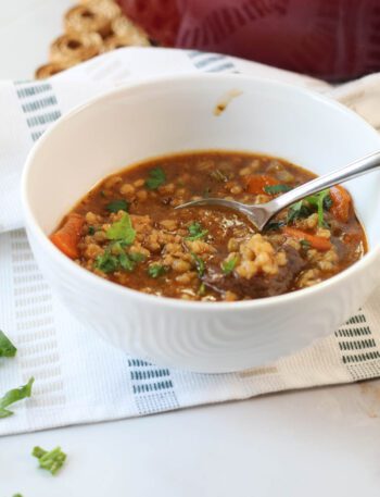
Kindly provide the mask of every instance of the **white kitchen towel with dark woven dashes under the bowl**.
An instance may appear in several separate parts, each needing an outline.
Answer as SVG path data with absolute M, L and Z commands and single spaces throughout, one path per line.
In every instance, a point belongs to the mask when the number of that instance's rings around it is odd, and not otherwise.
M 114 349 L 61 307 L 29 250 L 20 210 L 20 175 L 33 144 L 62 114 L 111 87 L 159 74 L 252 74 L 314 88 L 380 125 L 380 79 L 340 87 L 262 64 L 198 51 L 127 48 L 45 82 L 0 84 L 0 328 L 18 348 L 0 359 L 0 396 L 30 376 L 30 399 L 0 420 L 0 434 L 143 415 L 265 393 L 380 375 L 380 290 L 331 336 L 265 368 L 193 374 Z

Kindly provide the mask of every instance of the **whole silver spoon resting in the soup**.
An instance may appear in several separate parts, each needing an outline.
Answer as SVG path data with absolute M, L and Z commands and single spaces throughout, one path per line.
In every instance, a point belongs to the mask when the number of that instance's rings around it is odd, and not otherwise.
M 302 200 L 309 195 L 317 194 L 325 188 L 330 188 L 330 186 L 362 176 L 362 174 L 370 173 L 378 167 L 380 167 L 380 151 L 370 153 L 363 159 L 352 162 L 341 170 L 333 171 L 332 173 L 325 174 L 324 176 L 319 176 L 311 182 L 304 183 L 303 185 L 287 191 L 286 194 L 280 195 L 266 203 L 252 206 L 235 200 L 225 200 L 223 198 L 204 198 L 202 200 L 193 200 L 191 202 L 182 203 L 181 206 L 176 207 L 176 209 L 198 206 L 227 207 L 246 215 L 251 223 L 261 232 L 274 215 L 282 211 L 282 209 L 291 203 Z

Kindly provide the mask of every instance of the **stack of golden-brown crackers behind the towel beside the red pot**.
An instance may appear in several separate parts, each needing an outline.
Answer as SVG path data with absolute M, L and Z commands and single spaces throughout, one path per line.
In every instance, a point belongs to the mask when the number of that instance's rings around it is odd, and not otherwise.
M 64 29 L 50 46 L 49 63 L 37 69 L 37 79 L 109 50 L 151 45 L 147 33 L 122 13 L 115 0 L 80 0 L 66 12 Z

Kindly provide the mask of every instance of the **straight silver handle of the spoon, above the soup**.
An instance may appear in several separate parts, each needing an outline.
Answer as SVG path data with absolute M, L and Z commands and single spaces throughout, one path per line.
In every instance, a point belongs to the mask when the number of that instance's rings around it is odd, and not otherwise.
M 380 151 L 370 153 L 363 159 L 352 162 L 339 171 L 324 174 L 324 176 L 316 177 L 312 182 L 307 182 L 304 185 L 297 186 L 293 190 L 290 190 L 287 194 L 283 194 L 280 197 L 271 200 L 270 203 L 274 210 L 281 210 L 309 195 L 317 194 L 318 191 L 321 191 L 325 188 L 329 188 L 330 186 L 334 186 L 339 183 L 353 179 L 354 177 L 360 176 L 362 174 L 368 173 L 369 171 L 376 170 L 377 167 L 380 167 Z

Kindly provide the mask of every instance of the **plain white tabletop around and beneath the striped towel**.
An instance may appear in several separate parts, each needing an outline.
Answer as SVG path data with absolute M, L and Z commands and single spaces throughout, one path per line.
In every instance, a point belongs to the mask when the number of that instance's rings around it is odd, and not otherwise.
M 0 78 L 33 76 L 69 4 L 1 1 Z M 37 470 L 35 445 L 64 448 L 61 474 Z M 2 437 L 0 449 L 0 497 L 378 497 L 380 381 Z

